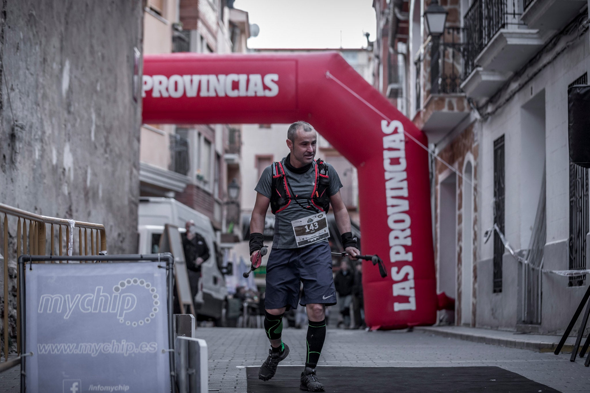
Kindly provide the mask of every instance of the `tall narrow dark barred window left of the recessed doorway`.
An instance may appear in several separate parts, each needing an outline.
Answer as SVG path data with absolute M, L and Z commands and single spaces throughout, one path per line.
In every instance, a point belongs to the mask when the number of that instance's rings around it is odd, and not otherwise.
M 504 233 L 504 136 L 494 141 L 494 224 Z M 504 243 L 494 230 L 494 293 L 502 292 Z

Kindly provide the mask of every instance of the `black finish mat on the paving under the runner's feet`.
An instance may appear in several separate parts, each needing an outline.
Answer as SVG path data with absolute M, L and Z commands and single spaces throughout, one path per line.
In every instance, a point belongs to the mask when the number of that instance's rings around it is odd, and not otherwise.
M 247 367 L 248 393 L 299 393 L 303 366 L 278 366 L 270 381 Z M 340 367 L 319 366 L 326 392 L 559 392 L 499 367 Z

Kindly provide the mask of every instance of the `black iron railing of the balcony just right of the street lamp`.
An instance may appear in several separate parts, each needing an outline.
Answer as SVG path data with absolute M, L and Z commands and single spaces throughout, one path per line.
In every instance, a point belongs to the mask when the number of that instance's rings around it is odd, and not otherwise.
M 474 70 L 477 56 L 500 29 L 523 25 L 522 13 L 516 12 L 520 1 L 523 0 L 475 0 L 471 4 L 463 18 L 463 42 L 466 44 L 463 80 Z

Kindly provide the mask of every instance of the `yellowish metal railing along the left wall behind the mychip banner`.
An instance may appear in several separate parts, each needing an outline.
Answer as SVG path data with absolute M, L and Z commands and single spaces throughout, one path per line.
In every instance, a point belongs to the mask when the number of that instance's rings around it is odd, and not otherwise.
M 49 248 L 47 247 L 48 225 L 50 226 Z M 16 232 L 14 232 L 15 227 Z M 50 255 L 74 255 L 75 249 L 79 251 L 79 255 L 99 255 L 99 252 L 106 252 L 107 237 L 104 230 L 104 225 L 102 224 L 41 216 L 40 214 L 26 212 L 25 210 L 17 209 L 16 207 L 11 207 L 3 203 L 0 203 L 0 228 L 2 229 L 2 256 L 4 257 L 4 340 L 2 343 L 4 346 L 2 348 L 2 352 L 4 353 L 4 360 L 6 364 L 2 362 L 2 365 L 0 366 L 0 371 L 3 371 L 4 369 L 8 369 L 11 366 L 19 364 L 20 362 L 20 358 L 16 358 L 11 359 L 10 363 L 8 363 L 8 354 L 10 352 L 9 338 L 11 336 L 9 326 L 10 312 L 8 303 L 8 288 L 10 285 L 8 269 L 9 263 L 16 263 L 16 260 L 19 256 L 27 254 L 47 255 L 47 252 L 50 252 Z M 9 230 L 9 228 L 11 228 L 11 230 Z M 78 232 L 77 248 L 74 244 L 76 243 L 75 232 Z M 54 261 L 52 263 L 57 262 L 59 261 Z M 17 354 L 20 354 L 21 337 L 19 334 L 19 317 L 21 312 L 21 299 L 19 296 L 18 269 L 15 269 L 13 274 L 16 275 L 17 293 L 15 336 L 17 338 Z

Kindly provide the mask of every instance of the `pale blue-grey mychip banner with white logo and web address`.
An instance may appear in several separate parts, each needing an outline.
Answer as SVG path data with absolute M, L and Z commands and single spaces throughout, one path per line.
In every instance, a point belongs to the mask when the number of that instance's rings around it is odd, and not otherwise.
M 27 391 L 169 392 L 168 292 L 159 265 L 27 265 Z

